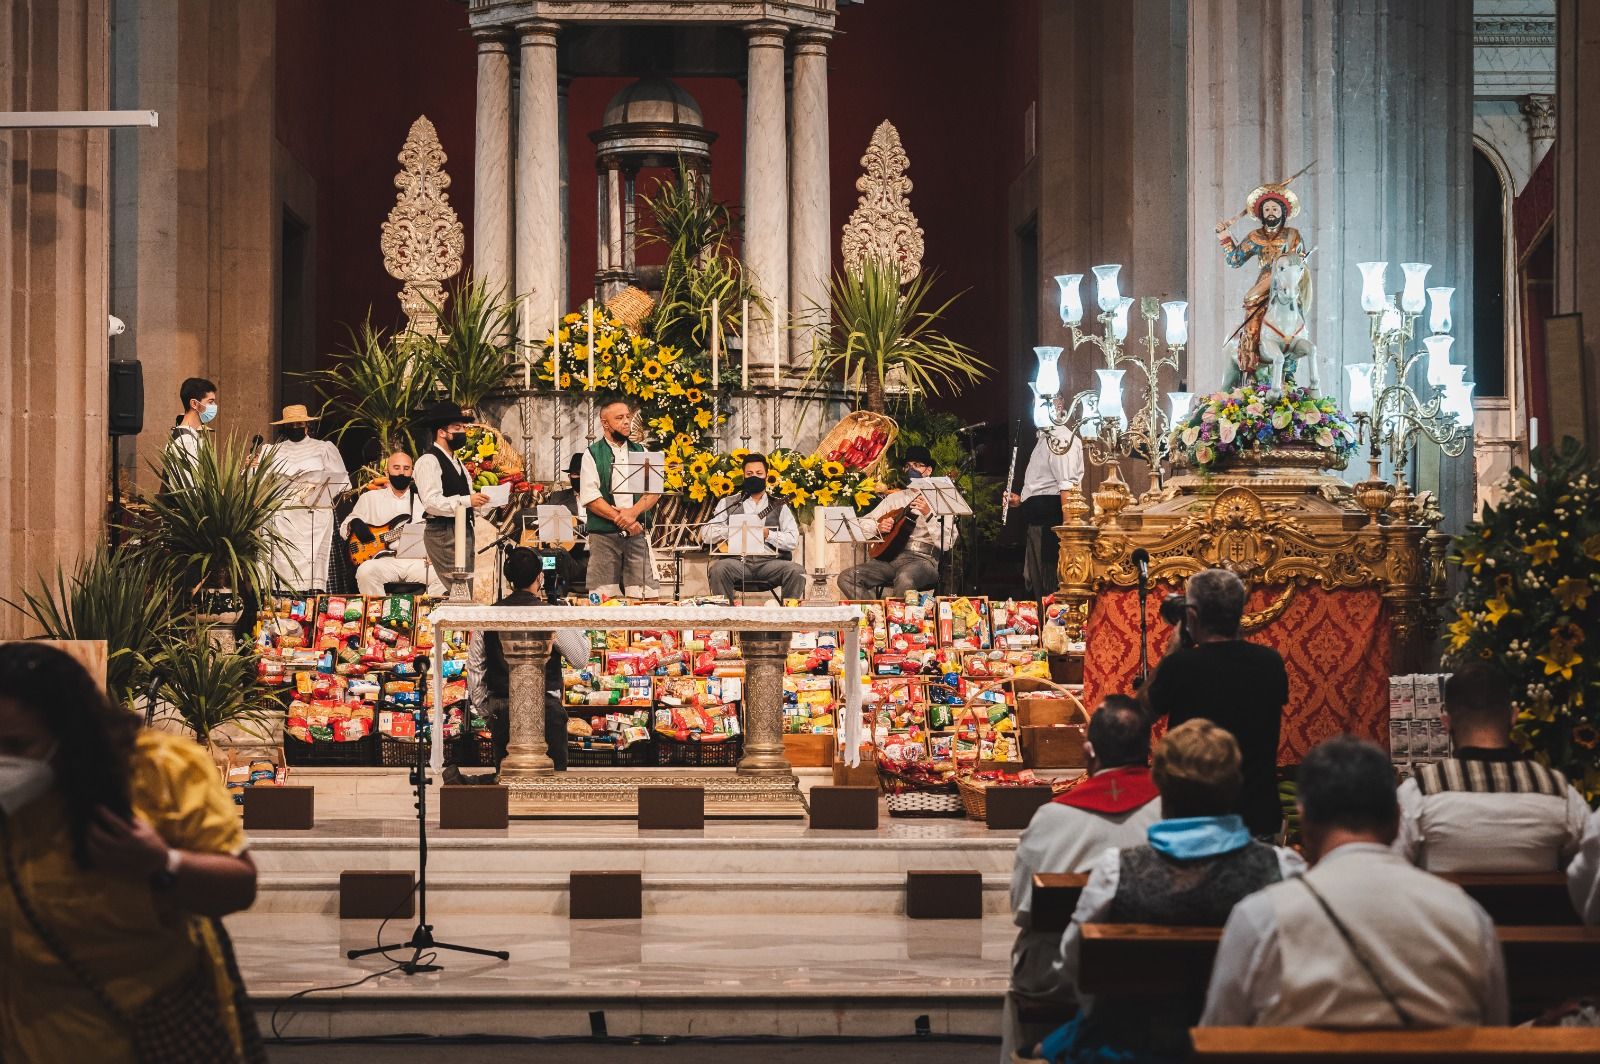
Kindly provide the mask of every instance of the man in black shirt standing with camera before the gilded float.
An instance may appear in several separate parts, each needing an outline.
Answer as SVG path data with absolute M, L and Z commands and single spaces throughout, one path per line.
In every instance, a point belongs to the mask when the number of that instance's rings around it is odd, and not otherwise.
M 1245 582 L 1234 573 L 1202 570 L 1189 578 L 1184 597 L 1184 624 L 1150 675 L 1150 714 L 1166 717 L 1168 726 L 1200 718 L 1230 731 L 1245 773 L 1237 811 L 1258 838 L 1275 835 L 1283 826 L 1278 728 L 1290 701 L 1283 658 L 1238 637 Z

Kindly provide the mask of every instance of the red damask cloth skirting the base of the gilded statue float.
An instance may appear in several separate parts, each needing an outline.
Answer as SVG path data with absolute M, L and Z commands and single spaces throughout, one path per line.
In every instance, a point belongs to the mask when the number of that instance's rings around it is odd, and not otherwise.
M 1157 613 L 1163 594 L 1155 590 L 1149 600 L 1152 670 L 1171 637 Z M 1266 610 L 1282 594 L 1282 586 L 1256 587 L 1246 610 Z M 1376 590 L 1301 587 L 1277 621 L 1248 638 L 1283 654 L 1290 674 L 1280 765 L 1299 762 L 1336 734 L 1389 746 L 1389 618 Z M 1083 704 L 1094 707 L 1102 694 L 1131 693 L 1139 675 L 1139 594 L 1101 592 L 1085 642 Z

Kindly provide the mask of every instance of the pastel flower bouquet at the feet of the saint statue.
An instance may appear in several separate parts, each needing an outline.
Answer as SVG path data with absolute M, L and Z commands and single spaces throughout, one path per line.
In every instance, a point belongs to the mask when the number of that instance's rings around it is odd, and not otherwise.
M 1333 398 L 1304 387 L 1275 392 L 1264 384 L 1208 395 L 1171 434 L 1173 454 L 1202 470 L 1250 448 L 1322 450 L 1333 456 L 1331 466 L 1342 467 L 1355 442 L 1355 426 Z

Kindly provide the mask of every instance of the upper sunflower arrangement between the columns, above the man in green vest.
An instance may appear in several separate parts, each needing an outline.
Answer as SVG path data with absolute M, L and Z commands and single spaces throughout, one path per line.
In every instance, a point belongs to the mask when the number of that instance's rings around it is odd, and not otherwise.
M 546 357 L 534 363 L 538 379 L 563 392 L 597 390 L 634 400 L 645 427 L 662 445 L 699 446 L 714 426 L 728 419 L 715 411 L 704 354 L 661 346 L 603 307 L 597 306 L 594 315 L 595 379 L 589 379 L 587 315 L 578 312 L 562 318 L 557 336 L 546 334 Z M 552 342 L 560 352 L 560 381 L 554 379 Z

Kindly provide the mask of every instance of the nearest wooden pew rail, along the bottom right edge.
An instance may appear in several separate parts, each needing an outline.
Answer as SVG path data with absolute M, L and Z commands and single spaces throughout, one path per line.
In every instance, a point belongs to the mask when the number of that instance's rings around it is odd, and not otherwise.
M 1315 1030 L 1192 1027 L 1194 1059 L 1230 1064 L 1531 1064 L 1600 1059 L 1594 1027 L 1454 1027 L 1448 1030 Z

